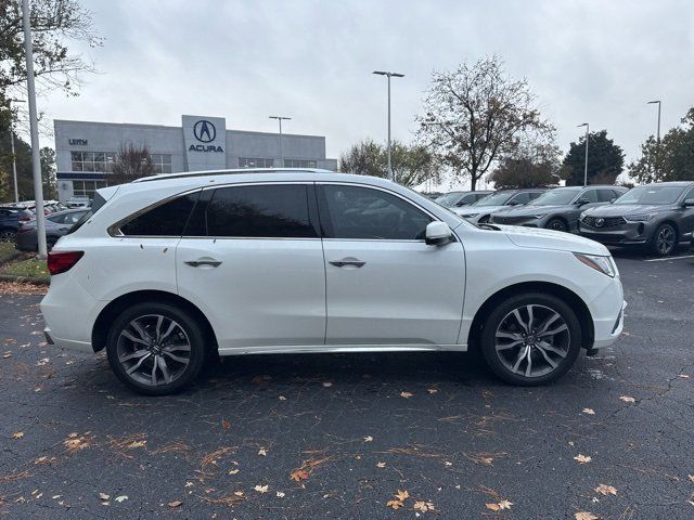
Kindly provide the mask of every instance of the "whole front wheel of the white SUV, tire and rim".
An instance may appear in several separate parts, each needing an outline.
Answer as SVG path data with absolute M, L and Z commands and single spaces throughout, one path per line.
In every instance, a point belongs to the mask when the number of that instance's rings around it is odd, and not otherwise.
M 491 370 L 506 382 L 543 385 L 563 376 L 581 348 L 581 326 L 571 308 L 552 295 L 509 298 L 487 317 L 481 349 Z

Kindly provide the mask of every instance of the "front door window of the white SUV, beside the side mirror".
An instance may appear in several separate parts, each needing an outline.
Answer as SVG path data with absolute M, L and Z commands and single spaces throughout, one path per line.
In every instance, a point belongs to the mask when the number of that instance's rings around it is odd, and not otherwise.
M 326 184 L 320 192 L 321 223 L 327 238 L 421 240 L 433 220 L 381 190 Z

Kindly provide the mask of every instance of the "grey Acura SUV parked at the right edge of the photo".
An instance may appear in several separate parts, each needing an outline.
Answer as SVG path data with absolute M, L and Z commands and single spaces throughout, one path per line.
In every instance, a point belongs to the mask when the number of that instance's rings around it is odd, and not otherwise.
M 631 188 L 609 206 L 581 213 L 580 233 L 602 244 L 646 246 L 670 255 L 694 230 L 694 182 Z

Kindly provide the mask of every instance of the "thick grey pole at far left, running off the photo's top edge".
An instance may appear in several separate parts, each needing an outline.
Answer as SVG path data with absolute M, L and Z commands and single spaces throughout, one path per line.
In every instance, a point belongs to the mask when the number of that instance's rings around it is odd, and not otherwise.
M 41 182 L 41 157 L 39 155 L 39 129 L 36 115 L 36 87 L 34 84 L 34 46 L 31 43 L 31 22 L 29 20 L 29 0 L 22 0 L 24 25 L 24 54 L 26 57 L 26 91 L 29 102 L 29 133 L 31 134 L 31 169 L 34 170 L 34 199 L 36 202 L 36 232 L 39 255 L 47 257 L 46 216 L 43 214 L 43 183 Z

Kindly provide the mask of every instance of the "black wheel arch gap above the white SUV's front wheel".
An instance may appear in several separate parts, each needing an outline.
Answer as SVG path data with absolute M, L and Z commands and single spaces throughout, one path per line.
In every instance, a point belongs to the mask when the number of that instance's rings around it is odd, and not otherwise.
M 595 337 L 593 318 L 588 306 L 580 296 L 571 289 L 551 282 L 522 282 L 498 290 L 487 298 L 479 309 L 477 309 L 473 323 L 470 327 L 470 332 L 467 333 L 468 350 L 475 350 L 479 347 L 481 327 L 484 325 L 485 317 L 489 314 L 490 310 L 505 299 L 524 292 L 545 292 L 566 301 L 566 303 L 576 312 L 578 321 L 581 324 L 581 348 L 590 349 L 592 347 L 593 339 Z

